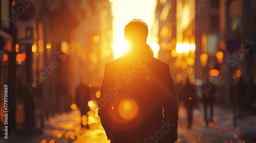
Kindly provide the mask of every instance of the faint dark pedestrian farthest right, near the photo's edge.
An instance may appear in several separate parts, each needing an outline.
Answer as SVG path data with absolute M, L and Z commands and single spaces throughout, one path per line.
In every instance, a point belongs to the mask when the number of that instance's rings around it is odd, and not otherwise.
M 247 90 L 246 83 L 244 81 L 243 77 L 240 77 L 237 85 L 236 85 L 236 92 L 237 92 L 237 103 L 238 107 L 240 108 L 238 117 L 243 117 L 244 116 L 244 109 L 245 109 L 245 91 Z

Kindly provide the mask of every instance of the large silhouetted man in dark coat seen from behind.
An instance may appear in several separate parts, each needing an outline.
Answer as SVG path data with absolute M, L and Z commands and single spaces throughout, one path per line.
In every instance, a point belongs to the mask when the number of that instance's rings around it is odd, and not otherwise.
M 177 140 L 174 82 L 169 65 L 153 58 L 147 33 L 142 20 L 128 23 L 124 36 L 129 51 L 105 65 L 98 115 L 111 143 Z

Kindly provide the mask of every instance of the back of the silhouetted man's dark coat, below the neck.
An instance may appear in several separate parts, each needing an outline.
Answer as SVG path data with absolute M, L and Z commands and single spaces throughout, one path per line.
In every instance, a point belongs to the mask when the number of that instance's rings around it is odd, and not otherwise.
M 107 102 L 100 107 L 101 122 L 115 136 L 144 141 L 178 118 L 169 66 L 149 54 L 135 54 L 132 58 L 126 55 L 106 64 L 100 90 L 101 98 Z M 162 106 L 166 108 L 165 117 Z

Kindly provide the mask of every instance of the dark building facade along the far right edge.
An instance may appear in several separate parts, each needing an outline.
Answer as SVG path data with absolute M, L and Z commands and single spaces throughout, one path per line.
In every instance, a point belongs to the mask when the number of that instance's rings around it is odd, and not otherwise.
M 255 44 L 256 44 L 256 1 L 230 0 L 222 2 L 225 11 L 224 65 L 230 72 L 226 78 L 227 88 L 235 87 L 243 77 L 246 90 L 243 95 L 247 107 L 255 103 L 252 83 L 256 83 Z M 228 93 L 229 89 L 226 89 Z M 236 94 L 229 92 L 228 94 Z

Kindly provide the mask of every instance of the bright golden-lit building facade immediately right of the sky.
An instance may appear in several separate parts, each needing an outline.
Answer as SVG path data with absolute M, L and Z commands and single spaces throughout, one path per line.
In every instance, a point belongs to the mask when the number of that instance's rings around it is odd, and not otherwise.
M 175 82 L 195 82 L 195 1 L 158 1 L 153 34 L 159 59 L 170 65 Z

